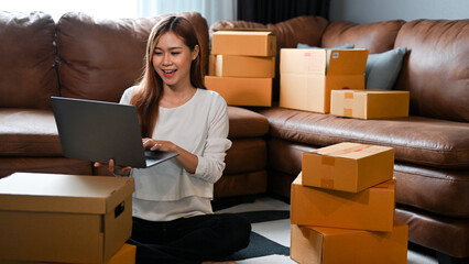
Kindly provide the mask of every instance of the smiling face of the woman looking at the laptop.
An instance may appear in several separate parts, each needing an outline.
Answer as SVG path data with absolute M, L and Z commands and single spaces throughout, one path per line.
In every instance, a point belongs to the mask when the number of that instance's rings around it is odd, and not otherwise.
M 152 62 L 163 84 L 170 87 L 190 86 L 190 63 L 198 55 L 173 32 L 164 33 L 156 43 Z

